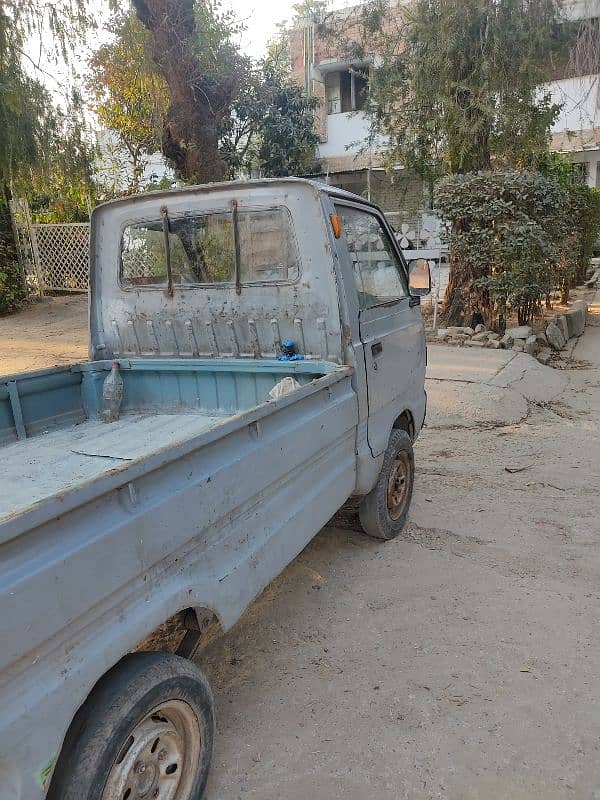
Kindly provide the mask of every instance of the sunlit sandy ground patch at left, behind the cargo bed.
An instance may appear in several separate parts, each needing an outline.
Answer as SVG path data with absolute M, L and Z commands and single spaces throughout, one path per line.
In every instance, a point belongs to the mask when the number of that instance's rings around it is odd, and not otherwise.
M 46 297 L 0 317 L 0 375 L 87 358 L 87 295 Z

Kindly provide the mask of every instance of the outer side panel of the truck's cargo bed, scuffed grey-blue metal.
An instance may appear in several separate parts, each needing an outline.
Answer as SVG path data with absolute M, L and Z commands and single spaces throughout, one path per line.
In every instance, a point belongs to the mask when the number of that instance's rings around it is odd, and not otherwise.
M 350 375 L 300 393 L 0 546 L 0 753 L 22 797 L 123 654 L 189 606 L 232 625 L 351 494 Z

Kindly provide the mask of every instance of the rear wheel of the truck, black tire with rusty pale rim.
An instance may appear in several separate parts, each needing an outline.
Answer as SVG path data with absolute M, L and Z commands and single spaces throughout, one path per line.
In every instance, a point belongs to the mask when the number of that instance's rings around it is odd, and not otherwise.
M 178 714 L 181 719 L 175 722 Z M 187 752 L 185 741 L 178 745 L 177 724 L 191 732 Z M 199 739 L 194 738 L 194 725 Z M 158 787 L 163 781 L 177 781 L 177 800 L 200 800 L 208 778 L 214 727 L 212 693 L 193 664 L 171 653 L 125 656 L 100 679 L 77 712 L 47 800 L 160 798 Z M 153 736 L 157 739 L 150 751 Z M 145 749 L 141 749 L 143 738 Z M 132 759 L 136 760 L 130 768 Z M 125 782 L 130 780 L 133 788 L 128 793 Z M 143 786 L 142 780 L 146 781 Z

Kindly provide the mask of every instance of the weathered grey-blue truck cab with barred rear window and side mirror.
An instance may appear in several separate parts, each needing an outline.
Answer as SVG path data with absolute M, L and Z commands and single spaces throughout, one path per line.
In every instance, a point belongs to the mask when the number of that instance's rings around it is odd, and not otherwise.
M 170 283 L 156 258 L 165 224 Z M 288 338 L 305 359 L 351 366 L 357 493 L 372 488 L 394 427 L 418 435 L 429 269 L 409 271 L 363 198 L 286 178 L 117 200 L 94 214 L 92 259 L 92 360 L 277 358 Z

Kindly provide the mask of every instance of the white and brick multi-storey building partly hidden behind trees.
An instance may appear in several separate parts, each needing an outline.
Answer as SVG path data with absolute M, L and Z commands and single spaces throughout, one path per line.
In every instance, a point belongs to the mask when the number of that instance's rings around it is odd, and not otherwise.
M 393 21 L 410 0 L 388 2 L 389 20 Z M 351 39 L 355 26 L 353 8 L 336 13 L 347 18 L 347 35 Z M 589 60 L 597 70 L 600 0 L 565 0 L 563 15 L 570 20 L 592 21 L 590 37 L 596 37 L 598 41 L 592 42 L 594 53 Z M 369 141 L 369 118 L 361 110 L 365 81 L 360 73 L 368 70 L 368 60 L 352 63 L 344 60 L 336 44 L 322 38 L 318 26 L 310 18 L 302 20 L 290 32 L 290 47 L 294 78 L 321 100 L 318 157 L 323 172 L 336 185 L 378 197 L 381 192 L 377 189 L 381 190 L 384 183 L 378 169 L 381 163 L 379 151 L 385 142 L 383 139 Z M 371 55 L 371 61 L 376 65 L 376 54 Z M 571 74 L 578 74 L 577 70 Z M 578 77 L 546 84 L 541 89 L 551 95 L 554 103 L 562 106 L 551 131 L 551 149 L 569 154 L 574 162 L 582 165 L 582 176 L 588 185 L 600 186 L 600 73 L 579 74 Z M 399 174 L 396 176 L 397 187 L 401 182 Z M 386 192 L 385 197 L 383 204 L 391 207 L 391 194 Z M 400 208 L 406 206 L 406 197 L 402 201 Z

